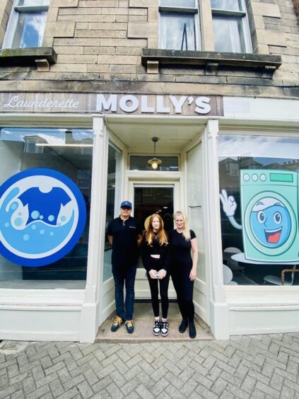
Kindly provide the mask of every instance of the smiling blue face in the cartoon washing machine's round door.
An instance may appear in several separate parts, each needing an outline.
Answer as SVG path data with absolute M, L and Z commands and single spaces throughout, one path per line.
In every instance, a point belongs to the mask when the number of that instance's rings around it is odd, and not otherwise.
M 291 234 L 291 215 L 274 197 L 259 199 L 250 212 L 250 228 L 257 241 L 266 248 L 279 248 Z

